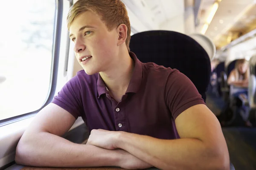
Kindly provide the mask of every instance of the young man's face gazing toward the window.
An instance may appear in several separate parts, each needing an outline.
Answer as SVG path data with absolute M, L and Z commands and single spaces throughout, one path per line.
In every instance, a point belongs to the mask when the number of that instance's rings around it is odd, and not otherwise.
M 93 12 L 87 11 L 75 18 L 70 26 L 70 39 L 75 43 L 76 59 L 87 74 L 104 72 L 114 66 L 113 61 L 118 56 L 118 32 L 115 28 L 108 31 Z

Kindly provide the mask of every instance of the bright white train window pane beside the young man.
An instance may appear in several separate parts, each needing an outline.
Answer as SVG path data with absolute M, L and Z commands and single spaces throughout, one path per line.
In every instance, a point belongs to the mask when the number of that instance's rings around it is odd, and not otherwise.
M 55 0 L 4 0 L 0 8 L 0 120 L 36 111 L 52 71 Z

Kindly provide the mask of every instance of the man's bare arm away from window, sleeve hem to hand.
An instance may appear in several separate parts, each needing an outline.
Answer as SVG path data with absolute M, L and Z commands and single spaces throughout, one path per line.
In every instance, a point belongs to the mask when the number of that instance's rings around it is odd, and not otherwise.
M 221 126 L 206 105 L 186 109 L 176 118 L 175 124 L 181 139 L 163 140 L 94 130 L 88 142 L 126 150 L 163 170 L 229 170 L 229 154 Z

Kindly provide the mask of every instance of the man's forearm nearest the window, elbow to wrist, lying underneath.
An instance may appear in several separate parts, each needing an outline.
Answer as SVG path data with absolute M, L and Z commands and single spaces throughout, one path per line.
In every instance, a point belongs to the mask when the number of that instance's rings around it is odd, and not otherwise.
M 27 134 L 29 135 L 29 134 Z M 117 166 L 118 150 L 75 144 L 64 138 L 42 132 L 19 142 L 17 164 L 40 167 Z

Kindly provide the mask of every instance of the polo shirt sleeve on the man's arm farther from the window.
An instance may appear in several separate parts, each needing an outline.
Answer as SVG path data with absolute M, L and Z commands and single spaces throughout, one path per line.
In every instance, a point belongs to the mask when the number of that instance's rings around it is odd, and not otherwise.
M 174 119 L 194 105 L 205 104 L 192 81 L 178 70 L 170 73 L 167 78 L 165 97 Z

